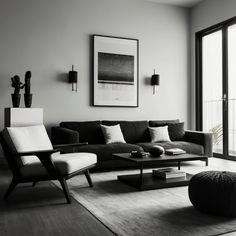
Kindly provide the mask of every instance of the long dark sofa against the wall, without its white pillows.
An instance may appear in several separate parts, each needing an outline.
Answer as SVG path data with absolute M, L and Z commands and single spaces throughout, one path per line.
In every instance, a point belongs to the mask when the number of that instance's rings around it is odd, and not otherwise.
M 126 143 L 105 144 L 100 127 L 120 124 Z M 151 143 L 148 127 L 168 125 L 171 142 Z M 88 142 L 73 151 L 97 154 L 97 168 L 130 167 L 132 163 L 115 158 L 113 153 L 131 152 L 135 150 L 149 151 L 154 145 L 164 149 L 178 147 L 188 153 L 212 156 L 212 135 L 198 131 L 184 131 L 179 120 L 152 121 L 81 121 L 61 122 L 59 127 L 52 127 L 53 144 Z

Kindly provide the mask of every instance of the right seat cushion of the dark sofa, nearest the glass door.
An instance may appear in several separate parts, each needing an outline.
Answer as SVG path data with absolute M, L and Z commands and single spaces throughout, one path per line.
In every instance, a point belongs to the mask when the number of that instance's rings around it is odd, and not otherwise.
M 185 150 L 187 153 L 193 154 L 203 154 L 204 148 L 202 145 L 184 141 L 174 141 L 174 142 L 158 142 L 158 143 L 137 143 L 137 145 L 141 146 L 144 151 L 149 152 L 149 150 L 155 146 L 161 146 L 165 150 L 169 148 L 181 148 Z

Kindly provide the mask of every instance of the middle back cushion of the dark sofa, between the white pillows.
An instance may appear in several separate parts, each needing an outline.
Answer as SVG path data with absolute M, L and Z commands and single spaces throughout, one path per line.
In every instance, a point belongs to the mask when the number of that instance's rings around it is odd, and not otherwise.
M 102 121 L 103 125 L 120 124 L 121 131 L 127 143 L 150 142 L 148 121 Z

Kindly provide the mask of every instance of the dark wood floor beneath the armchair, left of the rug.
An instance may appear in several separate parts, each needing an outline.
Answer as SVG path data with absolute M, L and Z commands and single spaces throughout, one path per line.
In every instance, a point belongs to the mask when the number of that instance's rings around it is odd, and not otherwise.
M 72 199 L 65 204 L 60 189 L 51 182 L 35 187 L 19 185 L 8 202 L 2 196 L 10 182 L 10 172 L 0 167 L 1 236 L 113 236 L 89 211 Z

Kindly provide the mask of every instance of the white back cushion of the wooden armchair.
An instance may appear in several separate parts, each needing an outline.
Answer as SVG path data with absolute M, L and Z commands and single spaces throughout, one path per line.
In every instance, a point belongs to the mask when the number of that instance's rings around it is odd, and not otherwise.
M 10 127 L 8 133 L 17 152 L 29 152 L 53 149 L 44 125 Z M 22 156 L 23 165 L 38 161 L 36 156 Z

